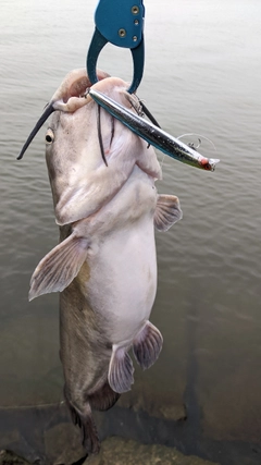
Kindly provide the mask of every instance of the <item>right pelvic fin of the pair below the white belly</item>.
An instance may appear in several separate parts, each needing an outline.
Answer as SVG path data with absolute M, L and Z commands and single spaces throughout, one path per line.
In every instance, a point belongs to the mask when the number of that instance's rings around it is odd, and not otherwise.
M 160 331 L 150 322 L 138 333 L 133 342 L 133 353 L 142 369 L 150 368 L 162 350 L 163 338 Z

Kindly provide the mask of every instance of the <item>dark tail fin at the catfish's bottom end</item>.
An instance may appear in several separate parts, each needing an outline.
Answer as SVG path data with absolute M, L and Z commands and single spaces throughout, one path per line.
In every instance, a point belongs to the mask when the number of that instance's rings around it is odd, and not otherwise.
M 64 389 L 64 399 L 66 401 L 72 420 L 82 430 L 82 443 L 88 454 L 98 454 L 100 451 L 100 440 L 96 424 L 92 417 L 90 403 L 86 402 L 84 412 L 79 412 L 69 400 L 66 388 Z

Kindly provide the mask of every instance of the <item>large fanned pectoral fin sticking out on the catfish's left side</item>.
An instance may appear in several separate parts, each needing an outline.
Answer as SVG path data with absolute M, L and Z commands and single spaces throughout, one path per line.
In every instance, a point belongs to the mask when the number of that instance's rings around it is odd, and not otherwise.
M 39 262 L 30 279 L 29 301 L 41 294 L 63 291 L 78 274 L 87 257 L 86 238 L 70 235 Z

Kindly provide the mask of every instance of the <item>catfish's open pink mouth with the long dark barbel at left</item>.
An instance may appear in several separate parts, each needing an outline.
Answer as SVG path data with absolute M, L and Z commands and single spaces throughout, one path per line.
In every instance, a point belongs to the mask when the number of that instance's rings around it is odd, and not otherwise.
M 97 71 L 97 75 L 99 77 L 99 81 L 109 77 L 109 74 L 104 73 L 101 70 Z M 88 98 L 88 95 L 86 94 L 86 90 L 90 86 L 91 83 L 87 76 L 86 69 L 73 70 L 66 75 L 62 86 L 60 86 L 55 94 L 52 96 L 51 101 L 47 105 L 44 110 L 44 113 L 41 114 L 35 127 L 27 137 L 17 157 L 17 160 L 21 160 L 23 158 L 24 152 L 30 145 L 32 140 L 35 138 L 38 131 L 54 111 L 74 112 L 75 110 L 77 110 L 77 108 L 83 107 L 84 105 L 87 105 L 90 101 L 90 98 Z

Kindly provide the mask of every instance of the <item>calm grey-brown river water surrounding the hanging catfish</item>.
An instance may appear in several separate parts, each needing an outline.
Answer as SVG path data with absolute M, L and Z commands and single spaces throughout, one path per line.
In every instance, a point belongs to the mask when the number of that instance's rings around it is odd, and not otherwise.
M 259 444 L 261 3 L 145 3 L 138 94 L 165 131 L 200 134 L 200 152 L 221 162 L 209 173 L 159 152 L 158 189 L 179 197 L 184 219 L 157 233 L 152 321 L 164 348 L 153 368 L 136 371 L 137 386 L 161 405 L 185 403 L 203 438 Z M 62 399 L 58 296 L 27 302 L 30 274 L 58 241 L 45 130 L 23 161 L 16 156 L 64 75 L 85 66 L 95 7 L 1 0 L 0 406 Z M 99 66 L 132 77 L 126 50 L 107 46 Z M 197 144 L 198 136 L 184 140 Z

